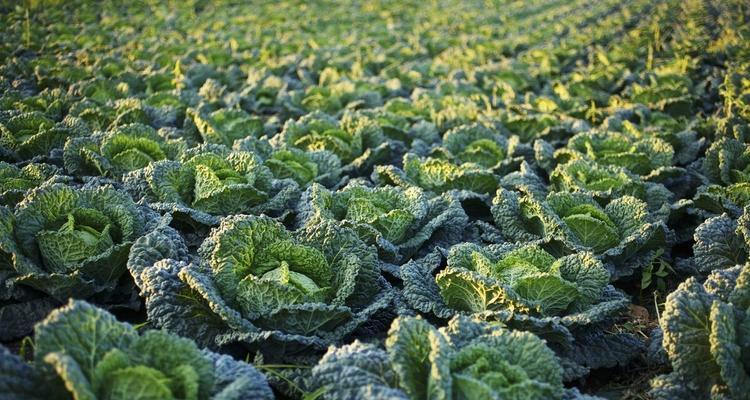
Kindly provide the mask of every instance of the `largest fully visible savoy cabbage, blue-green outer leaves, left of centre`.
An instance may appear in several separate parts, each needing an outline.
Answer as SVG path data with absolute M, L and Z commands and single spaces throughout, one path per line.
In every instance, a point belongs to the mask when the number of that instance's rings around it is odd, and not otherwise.
M 392 301 L 375 248 L 326 221 L 290 232 L 266 216 L 227 217 L 198 256 L 190 262 L 162 227 L 128 265 L 149 319 L 207 346 L 241 342 L 270 357 L 323 349 Z

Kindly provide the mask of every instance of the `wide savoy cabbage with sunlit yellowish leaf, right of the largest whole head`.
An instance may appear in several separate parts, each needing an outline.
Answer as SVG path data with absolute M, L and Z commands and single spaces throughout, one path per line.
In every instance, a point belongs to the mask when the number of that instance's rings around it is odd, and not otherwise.
M 558 258 L 537 244 L 462 243 L 450 249 L 447 265 L 434 277 L 417 264 L 402 268 L 404 295 L 418 309 L 442 317 L 498 310 L 567 315 L 598 303 L 609 283 L 609 273 L 593 254 Z M 435 285 L 439 297 L 423 297 Z

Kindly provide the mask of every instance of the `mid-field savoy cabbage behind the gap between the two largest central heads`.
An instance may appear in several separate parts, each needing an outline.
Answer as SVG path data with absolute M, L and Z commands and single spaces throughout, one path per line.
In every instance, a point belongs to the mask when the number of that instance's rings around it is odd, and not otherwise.
M 448 195 L 430 197 L 418 187 L 371 187 L 361 181 L 337 191 L 313 185 L 298 214 L 303 225 L 326 220 L 351 228 L 389 262 L 460 241 L 468 222 L 459 202 Z

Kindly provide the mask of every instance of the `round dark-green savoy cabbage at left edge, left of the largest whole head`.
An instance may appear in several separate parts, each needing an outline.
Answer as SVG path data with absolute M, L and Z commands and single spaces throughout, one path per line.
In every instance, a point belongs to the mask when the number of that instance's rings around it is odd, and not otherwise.
M 14 271 L 13 284 L 60 301 L 87 298 L 114 289 L 131 245 L 154 221 L 153 212 L 111 186 L 43 185 L 4 221 L 0 253 Z

